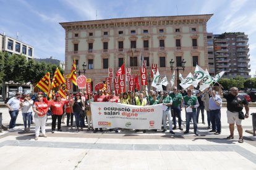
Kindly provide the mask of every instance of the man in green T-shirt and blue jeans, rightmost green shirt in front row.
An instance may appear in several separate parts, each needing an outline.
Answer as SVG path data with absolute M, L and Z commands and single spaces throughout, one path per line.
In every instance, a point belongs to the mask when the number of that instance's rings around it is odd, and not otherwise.
M 186 108 L 186 131 L 184 134 L 189 133 L 190 120 L 193 120 L 194 124 L 194 134 L 198 136 L 197 133 L 197 110 L 196 108 L 199 106 L 197 97 L 192 95 L 192 90 L 187 88 L 187 95 L 184 96 L 184 104 Z

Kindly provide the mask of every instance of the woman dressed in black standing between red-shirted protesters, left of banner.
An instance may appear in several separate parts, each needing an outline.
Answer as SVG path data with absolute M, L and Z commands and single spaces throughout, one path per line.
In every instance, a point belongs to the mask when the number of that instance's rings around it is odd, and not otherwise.
M 75 95 L 75 100 L 73 100 L 71 104 L 72 113 L 74 113 L 75 116 L 75 126 L 77 127 L 77 131 L 75 131 L 75 133 L 79 132 L 79 126 L 81 127 L 81 131 L 83 131 L 82 119 L 84 119 L 84 113 L 82 107 L 84 106 L 82 96 L 77 93 Z

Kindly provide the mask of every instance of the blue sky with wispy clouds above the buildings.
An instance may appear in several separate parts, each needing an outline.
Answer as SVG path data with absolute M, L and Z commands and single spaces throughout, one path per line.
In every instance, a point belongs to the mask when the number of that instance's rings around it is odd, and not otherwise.
M 154 1 L 154 0 L 0 0 L 0 33 L 35 47 L 36 58 L 53 56 L 64 61 L 65 31 L 59 22 L 214 14 L 207 24 L 213 34 L 245 32 L 249 35 L 251 75 L 256 70 L 256 1 Z

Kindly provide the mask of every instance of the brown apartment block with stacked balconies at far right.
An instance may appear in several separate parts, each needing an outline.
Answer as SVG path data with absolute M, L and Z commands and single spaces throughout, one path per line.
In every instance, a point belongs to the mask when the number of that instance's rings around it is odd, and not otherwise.
M 214 34 L 215 72 L 225 71 L 223 78 L 250 78 L 248 35 L 244 33 Z

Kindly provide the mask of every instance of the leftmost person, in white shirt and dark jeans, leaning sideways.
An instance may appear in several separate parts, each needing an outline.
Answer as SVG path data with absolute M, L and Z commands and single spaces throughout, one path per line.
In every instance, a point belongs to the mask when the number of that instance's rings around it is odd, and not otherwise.
M 11 121 L 9 124 L 9 131 L 14 132 L 15 129 L 14 127 L 16 126 L 16 119 L 17 116 L 19 115 L 20 111 L 20 93 L 16 93 L 14 97 L 8 100 L 6 103 L 6 107 L 9 108 L 9 114 L 11 116 Z

